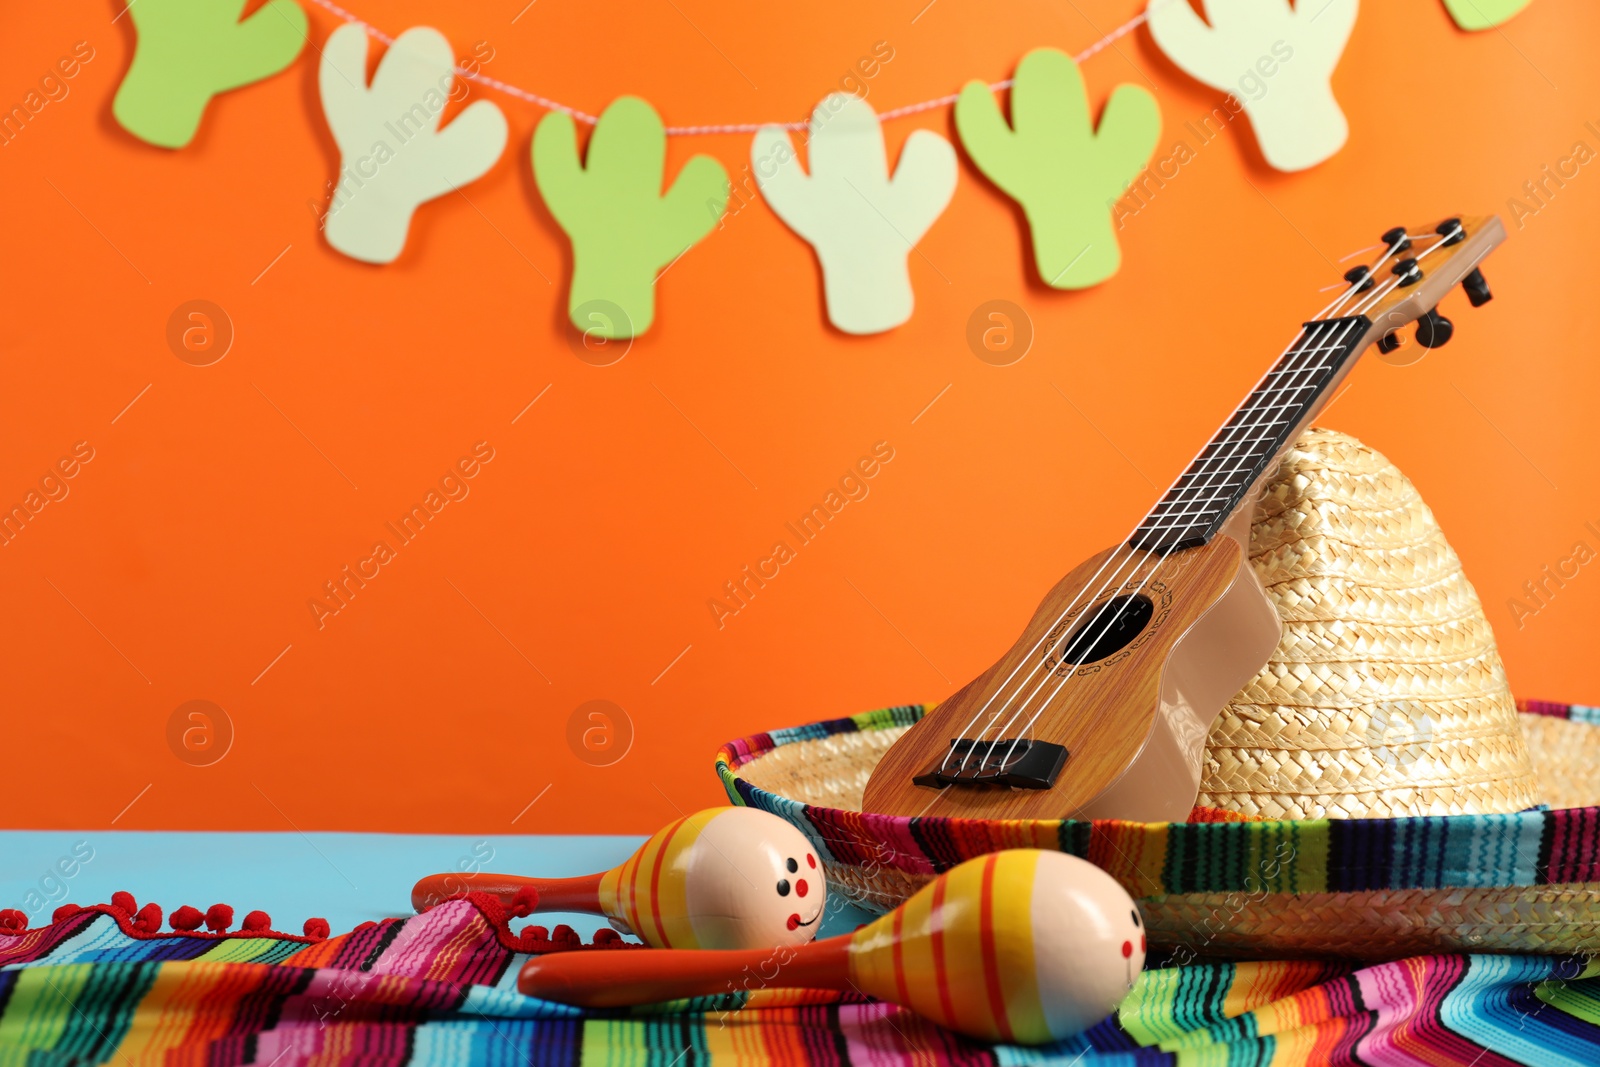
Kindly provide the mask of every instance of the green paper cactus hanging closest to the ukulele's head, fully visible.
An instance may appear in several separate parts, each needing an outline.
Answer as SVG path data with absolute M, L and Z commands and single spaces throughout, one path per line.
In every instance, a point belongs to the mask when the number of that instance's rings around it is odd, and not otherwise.
M 1046 285 L 1082 290 L 1117 274 L 1112 203 L 1162 133 L 1150 93 L 1118 85 L 1096 130 L 1078 64 L 1038 48 L 1016 67 L 1010 125 L 989 86 L 968 82 L 955 102 L 955 130 L 978 170 L 1022 205 Z

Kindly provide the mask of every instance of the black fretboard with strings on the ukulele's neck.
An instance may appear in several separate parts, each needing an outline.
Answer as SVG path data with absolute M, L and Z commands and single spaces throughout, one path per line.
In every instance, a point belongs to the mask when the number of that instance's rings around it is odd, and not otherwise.
M 1150 509 L 1128 544 L 1162 555 L 1208 544 L 1322 410 L 1331 387 L 1366 347 L 1371 328 L 1365 315 L 1306 323 L 1288 352 Z

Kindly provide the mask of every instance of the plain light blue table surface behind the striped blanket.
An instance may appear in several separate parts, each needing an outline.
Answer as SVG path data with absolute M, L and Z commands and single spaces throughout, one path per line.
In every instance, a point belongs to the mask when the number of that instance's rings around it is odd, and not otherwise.
M 61 904 L 102 904 L 126 889 L 163 915 L 181 904 L 202 912 L 230 904 L 235 926 L 261 909 L 272 928 L 298 934 L 318 917 L 333 933 L 366 920 L 411 915 L 411 885 L 443 870 L 560 878 L 616 867 L 643 837 L 442 835 L 442 833 L 213 833 L 152 830 L 0 830 L 0 907 L 50 921 Z M 64 873 L 70 872 L 70 873 Z M 829 907 L 821 936 L 846 933 L 867 912 Z M 555 928 L 584 941 L 605 926 L 597 915 L 550 912 L 514 920 Z

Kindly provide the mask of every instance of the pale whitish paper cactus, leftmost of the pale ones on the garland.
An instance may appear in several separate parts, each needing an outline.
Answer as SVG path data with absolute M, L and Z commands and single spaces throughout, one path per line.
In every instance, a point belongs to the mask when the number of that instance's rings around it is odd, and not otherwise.
M 392 262 L 418 205 L 482 178 L 506 150 L 506 115 L 488 101 L 438 128 L 454 66 L 445 35 L 416 26 L 389 46 L 368 88 L 366 32 L 346 24 L 328 37 L 318 83 L 339 184 L 325 234 L 346 256 Z

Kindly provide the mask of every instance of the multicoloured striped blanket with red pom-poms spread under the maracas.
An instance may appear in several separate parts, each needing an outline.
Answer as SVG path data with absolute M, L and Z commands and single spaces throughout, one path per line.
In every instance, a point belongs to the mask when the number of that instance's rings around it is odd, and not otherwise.
M 576 944 L 514 934 L 478 894 L 336 937 L 312 923 L 307 936 L 261 921 L 234 933 L 158 926 L 158 912 L 120 905 L 37 929 L 0 923 L 0 1067 L 1600 1064 L 1600 963 L 1563 957 L 1158 968 L 1114 1019 L 1026 1049 L 814 992 L 744 989 L 629 1013 L 530 1000 L 515 989 L 522 949 Z M 602 937 L 584 950 L 618 945 Z

